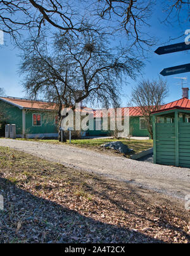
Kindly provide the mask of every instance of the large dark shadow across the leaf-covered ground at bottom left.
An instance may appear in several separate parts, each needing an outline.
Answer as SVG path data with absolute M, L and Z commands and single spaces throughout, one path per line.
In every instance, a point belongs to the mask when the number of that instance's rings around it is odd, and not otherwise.
M 1 243 L 163 243 L 141 232 L 96 221 L 0 178 Z M 63 198 L 64 201 L 64 198 Z

